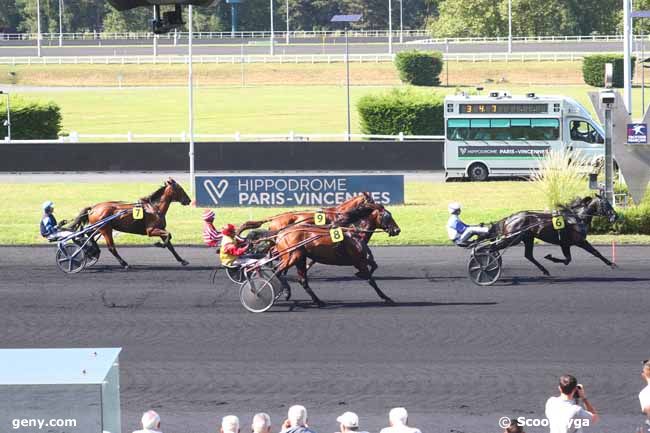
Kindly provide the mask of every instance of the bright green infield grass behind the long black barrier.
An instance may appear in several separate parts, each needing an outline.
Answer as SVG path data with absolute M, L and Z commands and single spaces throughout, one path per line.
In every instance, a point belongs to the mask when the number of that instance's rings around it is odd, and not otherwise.
M 356 103 L 364 95 L 390 87 L 354 87 L 352 130 L 358 132 Z M 515 94 L 536 92 L 570 96 L 593 114 L 588 86 L 490 86 Z M 455 89 L 418 89 L 453 94 Z M 81 134 L 161 133 L 187 130 L 187 91 L 184 88 L 125 88 L 29 92 L 53 100 L 63 112 L 64 131 Z M 640 101 L 640 90 L 634 90 Z M 635 104 L 635 116 L 640 116 Z M 342 86 L 199 87 L 195 92 L 196 133 L 242 134 L 335 133 L 346 129 L 345 88 Z

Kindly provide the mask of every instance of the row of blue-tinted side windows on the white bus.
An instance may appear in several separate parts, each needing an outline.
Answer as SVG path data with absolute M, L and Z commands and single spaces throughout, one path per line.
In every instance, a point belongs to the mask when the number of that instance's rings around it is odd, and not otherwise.
M 448 119 L 447 139 L 458 141 L 552 141 L 560 121 L 551 118 Z

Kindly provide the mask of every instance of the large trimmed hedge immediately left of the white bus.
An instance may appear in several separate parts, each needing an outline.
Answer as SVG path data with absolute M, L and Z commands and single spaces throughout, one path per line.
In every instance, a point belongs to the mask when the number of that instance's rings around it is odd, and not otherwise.
M 372 135 L 442 135 L 444 96 L 413 89 L 366 95 L 357 103 L 361 132 Z

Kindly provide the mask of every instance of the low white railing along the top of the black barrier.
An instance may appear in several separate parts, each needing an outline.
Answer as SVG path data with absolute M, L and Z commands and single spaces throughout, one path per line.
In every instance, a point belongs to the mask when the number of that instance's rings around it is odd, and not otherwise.
M 320 134 L 289 131 L 287 134 L 194 134 L 196 141 L 348 141 L 350 140 L 444 140 L 443 135 L 367 135 L 367 134 Z M 126 141 L 126 142 L 179 142 L 189 141 L 189 135 L 186 132 L 178 134 L 135 134 L 127 132 L 126 134 L 80 134 L 71 132 L 70 135 L 59 137 L 58 140 L 11 140 L 5 138 L 5 143 L 78 143 L 78 142 L 95 142 L 95 141 Z M 1 146 L 1 144 L 0 144 Z

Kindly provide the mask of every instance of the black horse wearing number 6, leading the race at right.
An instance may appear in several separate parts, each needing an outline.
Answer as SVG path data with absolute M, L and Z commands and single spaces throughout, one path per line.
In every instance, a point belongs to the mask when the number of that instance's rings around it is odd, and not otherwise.
M 564 228 L 556 230 L 553 226 L 553 219 L 558 216 L 563 218 Z M 616 221 L 617 218 L 616 212 L 609 201 L 599 195 L 576 199 L 569 205 L 562 207 L 556 214 L 530 211 L 518 212 L 497 222 L 490 228 L 491 235 L 510 236 L 510 238 L 497 242 L 492 248 L 500 250 L 523 242 L 525 247 L 524 256 L 537 266 L 544 275 L 550 274 L 533 256 L 536 238 L 549 244 L 559 245 L 562 248 L 564 259 L 555 258 L 551 254 L 544 257 L 554 263 L 568 265 L 571 262 L 571 247 L 575 245 L 599 258 L 607 266 L 615 267 L 616 265 L 607 260 L 587 241 L 589 226 L 595 216 L 606 217 L 610 222 Z

